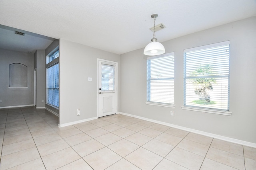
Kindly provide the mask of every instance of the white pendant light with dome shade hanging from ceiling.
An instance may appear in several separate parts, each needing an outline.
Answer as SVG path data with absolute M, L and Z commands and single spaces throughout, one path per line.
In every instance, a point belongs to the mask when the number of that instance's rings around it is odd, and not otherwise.
M 151 43 L 149 43 L 144 49 L 144 55 L 160 55 L 165 53 L 164 46 L 157 42 L 156 35 L 155 35 L 155 21 L 158 14 L 152 14 L 151 18 L 154 18 L 154 34 L 153 38 L 151 39 Z

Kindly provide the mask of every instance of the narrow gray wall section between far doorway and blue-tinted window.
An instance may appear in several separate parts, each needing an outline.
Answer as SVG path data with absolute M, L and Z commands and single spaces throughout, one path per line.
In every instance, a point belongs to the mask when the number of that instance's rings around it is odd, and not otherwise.
M 36 50 L 34 58 L 36 58 L 36 107 L 44 108 L 46 100 L 45 50 Z

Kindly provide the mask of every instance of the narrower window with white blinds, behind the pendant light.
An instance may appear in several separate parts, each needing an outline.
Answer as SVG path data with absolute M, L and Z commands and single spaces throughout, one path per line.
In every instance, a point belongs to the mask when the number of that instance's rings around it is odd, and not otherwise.
M 174 104 L 174 53 L 148 57 L 147 102 Z

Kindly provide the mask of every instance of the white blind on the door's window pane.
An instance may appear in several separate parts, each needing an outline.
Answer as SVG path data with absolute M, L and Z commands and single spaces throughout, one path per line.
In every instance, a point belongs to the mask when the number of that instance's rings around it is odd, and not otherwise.
M 101 90 L 115 90 L 115 66 L 101 64 Z

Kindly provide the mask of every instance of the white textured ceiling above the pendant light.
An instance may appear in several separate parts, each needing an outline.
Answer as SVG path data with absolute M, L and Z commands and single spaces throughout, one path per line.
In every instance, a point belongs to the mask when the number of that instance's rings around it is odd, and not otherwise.
M 154 13 L 163 42 L 256 16 L 256 0 L 0 0 L 1 25 L 116 54 L 150 43 Z

